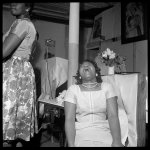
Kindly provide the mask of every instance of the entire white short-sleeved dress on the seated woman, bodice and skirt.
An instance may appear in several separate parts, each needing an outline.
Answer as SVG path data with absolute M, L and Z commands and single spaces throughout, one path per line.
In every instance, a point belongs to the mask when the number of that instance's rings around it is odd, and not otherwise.
M 111 145 L 106 100 L 114 96 L 114 89 L 106 82 L 102 82 L 99 91 L 81 91 L 79 85 L 68 88 L 64 101 L 76 104 L 76 142 L 84 139 Z

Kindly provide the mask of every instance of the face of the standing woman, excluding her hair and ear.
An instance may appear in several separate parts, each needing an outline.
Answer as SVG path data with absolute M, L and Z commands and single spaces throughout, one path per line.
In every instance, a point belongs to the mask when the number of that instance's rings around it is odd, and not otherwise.
M 11 14 L 13 16 L 20 16 L 26 13 L 25 3 L 11 3 Z

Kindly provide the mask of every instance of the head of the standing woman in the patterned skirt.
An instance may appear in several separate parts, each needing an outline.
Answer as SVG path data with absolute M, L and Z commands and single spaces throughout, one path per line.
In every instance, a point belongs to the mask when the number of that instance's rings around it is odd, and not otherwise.
M 30 17 L 33 3 L 11 3 L 11 14 L 20 18 L 21 16 Z

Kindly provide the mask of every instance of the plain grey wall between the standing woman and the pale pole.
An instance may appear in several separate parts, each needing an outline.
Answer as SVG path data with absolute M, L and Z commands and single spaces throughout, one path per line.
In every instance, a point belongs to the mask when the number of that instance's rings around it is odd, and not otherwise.
M 42 20 L 36 20 L 34 24 L 40 35 L 39 43 L 41 47 L 41 54 L 37 61 L 37 66 L 39 66 L 41 60 L 44 59 L 44 54 L 47 48 L 45 46 L 46 39 L 52 39 L 55 41 L 54 53 L 56 57 L 67 59 L 67 47 L 65 44 L 66 25 Z

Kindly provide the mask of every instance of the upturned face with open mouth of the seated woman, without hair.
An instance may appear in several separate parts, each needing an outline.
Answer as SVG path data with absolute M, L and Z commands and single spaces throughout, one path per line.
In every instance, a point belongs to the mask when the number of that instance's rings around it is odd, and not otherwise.
M 84 62 L 80 66 L 79 73 L 81 75 L 82 81 L 95 81 L 96 80 L 95 67 L 90 62 Z

